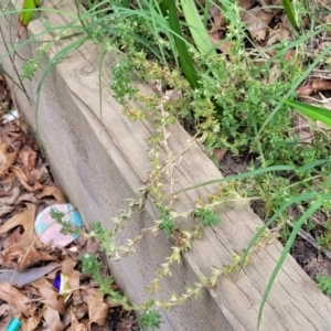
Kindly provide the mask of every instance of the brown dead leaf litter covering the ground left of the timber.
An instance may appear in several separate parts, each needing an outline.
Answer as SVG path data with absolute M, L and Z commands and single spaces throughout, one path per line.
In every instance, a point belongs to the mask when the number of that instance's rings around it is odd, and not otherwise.
M 22 117 L 9 116 L 10 106 L 0 75 L 0 330 L 12 318 L 23 331 L 140 330 L 131 312 L 111 306 L 82 275 L 79 254 L 99 254 L 95 239 L 81 236 L 60 247 L 35 234 L 36 215 L 67 201 Z

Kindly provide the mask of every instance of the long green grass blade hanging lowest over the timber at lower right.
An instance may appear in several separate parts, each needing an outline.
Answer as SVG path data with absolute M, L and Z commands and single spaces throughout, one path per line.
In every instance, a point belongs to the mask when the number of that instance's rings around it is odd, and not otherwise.
M 289 253 L 295 239 L 296 239 L 296 236 L 300 229 L 300 227 L 302 226 L 302 224 L 322 205 L 322 202 L 320 200 L 316 201 L 302 215 L 301 217 L 296 222 L 295 226 L 293 226 L 293 229 L 284 247 L 284 250 L 280 255 L 280 258 L 279 260 L 277 261 L 277 265 L 270 276 L 270 279 L 268 281 L 268 285 L 267 285 L 267 288 L 264 292 L 264 296 L 263 296 L 263 300 L 261 300 L 261 303 L 259 306 L 259 310 L 258 310 L 258 319 L 257 319 L 257 329 L 259 328 L 260 325 L 260 320 L 261 320 L 261 313 L 263 313 L 263 310 L 264 310 L 264 307 L 265 307 L 265 303 L 267 301 L 267 298 L 268 298 L 268 295 L 271 290 L 271 287 L 274 285 L 274 281 L 276 279 L 276 276 L 278 274 L 278 271 L 280 270 L 284 261 L 285 261 L 285 258 L 287 256 L 287 254 Z

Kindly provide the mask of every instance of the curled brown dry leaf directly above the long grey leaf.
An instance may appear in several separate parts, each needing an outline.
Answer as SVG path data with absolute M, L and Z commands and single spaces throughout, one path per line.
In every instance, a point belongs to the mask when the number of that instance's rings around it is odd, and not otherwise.
M 43 260 L 55 260 L 54 256 L 38 250 L 34 245 L 28 247 L 21 245 L 14 245 L 3 252 L 3 266 L 8 268 L 17 268 L 19 271 L 23 271 L 26 268 L 33 266 L 36 263 Z

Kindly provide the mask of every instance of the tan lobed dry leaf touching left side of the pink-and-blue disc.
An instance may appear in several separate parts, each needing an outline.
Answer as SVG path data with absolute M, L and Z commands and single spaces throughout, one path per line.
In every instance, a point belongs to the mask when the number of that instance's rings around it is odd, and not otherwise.
M 15 226 L 23 226 L 24 233 L 21 237 L 21 245 L 30 245 L 34 238 L 34 217 L 35 217 L 35 205 L 29 204 L 28 210 L 23 213 L 17 214 L 8 220 L 1 227 L 0 234 L 7 233 Z

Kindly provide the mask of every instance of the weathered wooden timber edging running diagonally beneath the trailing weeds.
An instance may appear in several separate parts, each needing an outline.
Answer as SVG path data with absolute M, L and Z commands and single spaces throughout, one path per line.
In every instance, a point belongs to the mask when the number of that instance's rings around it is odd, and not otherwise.
M 44 1 L 43 6 L 74 11 L 73 1 Z M 1 6 L 7 0 L 0 1 Z M 49 13 L 47 19 L 54 25 L 65 24 L 67 18 Z M 49 22 L 50 22 L 49 21 Z M 15 23 L 0 18 L 4 32 L 4 43 L 11 47 L 14 40 Z M 12 31 L 11 39 L 9 31 Z M 28 35 L 43 31 L 42 22 L 34 20 Z M 26 38 L 26 34 L 23 35 Z M 46 38 L 46 36 L 43 36 Z M 56 43 L 46 53 L 49 60 L 56 50 L 72 42 Z M 6 54 L 4 43 L 0 44 L 0 56 Z M 21 57 L 30 58 L 39 45 L 25 45 L 17 56 L 18 67 Z M 43 148 L 52 164 L 53 173 L 81 212 L 85 224 L 99 221 L 105 227 L 111 225 L 111 218 L 127 207 L 126 199 L 137 196 L 137 190 L 148 180 L 150 163 L 147 151 L 148 138 L 152 126 L 147 121 L 131 122 L 121 115 L 120 106 L 111 97 L 107 87 L 103 89 L 103 117 L 99 114 L 98 88 L 98 47 L 84 44 L 56 65 L 43 87 L 38 113 L 38 124 Z M 103 75 L 109 77 L 113 58 L 107 58 Z M 4 70 L 12 72 L 10 60 L 2 63 Z M 43 67 L 24 86 L 35 102 L 36 86 Z M 20 109 L 29 124 L 35 129 L 35 106 L 29 104 L 23 93 L 17 93 Z M 190 138 L 180 125 L 170 128 L 170 149 L 180 152 Z M 213 162 L 196 145 L 192 146 L 175 167 L 177 190 L 220 178 Z M 175 205 L 191 209 L 199 195 L 216 190 L 210 185 L 189 191 L 179 196 Z M 142 227 L 153 225 L 157 212 L 150 202 L 122 233 L 122 242 L 139 234 Z M 221 211 L 223 222 L 217 227 L 205 229 L 201 241 L 183 257 L 183 264 L 174 266 L 172 277 L 167 278 L 160 298 L 169 299 L 171 292 L 183 292 L 185 285 L 199 280 L 202 274 L 210 275 L 210 267 L 221 267 L 231 263 L 231 253 L 242 252 L 252 239 L 261 221 L 248 206 L 236 203 L 235 209 Z M 185 225 L 183 225 L 185 226 Z M 147 235 L 138 246 L 136 255 L 119 261 L 109 260 L 111 273 L 119 287 L 129 295 L 132 302 L 147 299 L 145 286 L 154 277 L 154 271 L 163 258 L 169 256 L 171 242 L 163 235 Z M 279 259 L 282 246 L 276 242 L 264 250 L 254 254 L 252 261 L 236 280 L 222 276 L 215 288 L 203 290 L 199 299 L 190 299 L 184 306 L 172 311 L 163 311 L 161 330 L 221 331 L 256 330 L 257 312 L 261 295 Z M 277 276 L 266 303 L 260 331 L 281 330 L 331 330 L 331 303 L 301 270 L 290 256 Z

